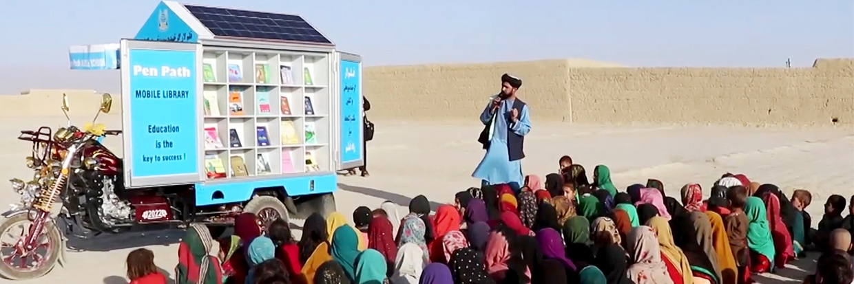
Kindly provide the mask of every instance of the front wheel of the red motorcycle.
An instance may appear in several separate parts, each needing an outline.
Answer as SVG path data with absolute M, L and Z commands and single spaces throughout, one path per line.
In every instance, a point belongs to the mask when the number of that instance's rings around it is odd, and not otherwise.
M 20 243 L 33 225 L 27 215 L 16 215 L 0 223 L 0 276 L 9 280 L 27 280 L 48 274 L 64 249 L 59 229 L 50 221 L 44 223 L 36 247 L 22 249 Z

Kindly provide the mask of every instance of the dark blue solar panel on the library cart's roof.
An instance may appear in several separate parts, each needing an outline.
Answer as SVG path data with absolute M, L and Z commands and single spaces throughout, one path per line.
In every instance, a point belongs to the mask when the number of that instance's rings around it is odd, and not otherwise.
M 295 14 L 184 5 L 214 36 L 263 38 L 306 43 L 332 42 Z

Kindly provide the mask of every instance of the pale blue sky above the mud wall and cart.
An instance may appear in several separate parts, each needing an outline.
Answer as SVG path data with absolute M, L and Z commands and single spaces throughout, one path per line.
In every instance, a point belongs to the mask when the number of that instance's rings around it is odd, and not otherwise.
M 118 90 L 68 46 L 132 38 L 160 1 L 27 0 L 0 17 L 0 94 Z M 583 58 L 632 67 L 810 67 L 854 57 L 854 1 L 186 0 L 300 14 L 366 66 Z

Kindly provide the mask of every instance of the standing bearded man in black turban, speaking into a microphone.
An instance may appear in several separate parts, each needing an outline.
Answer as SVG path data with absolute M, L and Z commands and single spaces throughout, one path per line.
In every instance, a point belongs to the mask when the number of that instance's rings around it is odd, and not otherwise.
M 487 151 L 471 177 L 480 178 L 483 185 L 507 183 L 518 190 L 523 184 L 524 136 L 531 130 L 531 122 L 529 107 L 516 97 L 521 86 L 521 79 L 501 76 L 501 92 L 481 113 L 485 127 L 477 142 Z

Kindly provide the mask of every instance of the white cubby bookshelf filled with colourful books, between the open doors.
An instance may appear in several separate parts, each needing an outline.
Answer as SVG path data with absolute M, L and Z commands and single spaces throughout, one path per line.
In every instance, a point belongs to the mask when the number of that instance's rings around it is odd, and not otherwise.
M 329 55 L 208 49 L 202 64 L 208 180 L 332 171 Z

